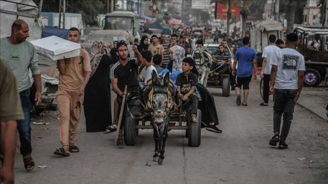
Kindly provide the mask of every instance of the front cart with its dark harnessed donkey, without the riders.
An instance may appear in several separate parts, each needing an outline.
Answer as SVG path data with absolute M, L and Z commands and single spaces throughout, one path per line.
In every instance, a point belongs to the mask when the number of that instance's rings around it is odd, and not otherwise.
M 139 129 L 153 129 L 155 154 L 153 160 L 163 163 L 165 143 L 169 130 L 186 130 L 188 144 L 191 147 L 200 145 L 201 112 L 197 110 L 197 121 L 193 122 L 189 108 L 191 101 L 182 102 L 176 94 L 170 74 L 157 77 L 152 74 L 142 95 L 135 95 L 126 101 L 124 121 L 124 141 L 128 146 L 136 144 Z M 195 97 L 194 97 L 195 98 Z

